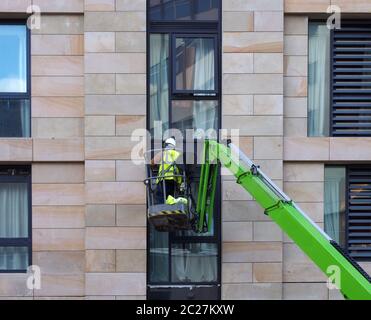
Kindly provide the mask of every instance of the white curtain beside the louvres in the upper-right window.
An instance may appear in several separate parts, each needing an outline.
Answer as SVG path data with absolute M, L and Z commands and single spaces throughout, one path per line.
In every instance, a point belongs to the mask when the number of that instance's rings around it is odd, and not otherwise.
M 309 24 L 308 136 L 329 136 L 330 30 Z

